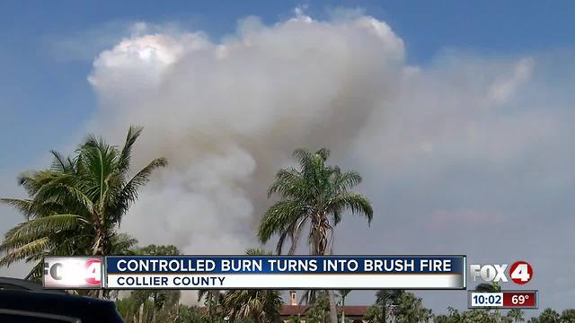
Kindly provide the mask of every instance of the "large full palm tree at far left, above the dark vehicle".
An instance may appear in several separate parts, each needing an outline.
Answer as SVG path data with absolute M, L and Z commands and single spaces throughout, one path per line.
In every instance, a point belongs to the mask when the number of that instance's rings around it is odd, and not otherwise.
M 30 197 L 1 200 L 24 214 L 26 221 L 5 233 L 0 266 L 18 260 L 38 262 L 45 255 L 109 255 L 117 251 L 115 240 L 129 244 L 116 232 L 122 217 L 152 171 L 167 163 L 155 159 L 128 177 L 132 148 L 141 131 L 130 127 L 121 149 L 88 135 L 74 157 L 52 151 L 49 170 L 22 174 L 19 182 Z

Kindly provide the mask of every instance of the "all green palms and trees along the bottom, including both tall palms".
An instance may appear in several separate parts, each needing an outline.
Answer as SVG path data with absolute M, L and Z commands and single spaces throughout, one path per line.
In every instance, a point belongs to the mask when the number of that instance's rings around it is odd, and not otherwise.
M 152 173 L 167 165 L 163 157 L 131 170 L 132 150 L 141 127 L 130 127 L 122 147 L 107 144 L 102 137 L 88 135 L 72 156 L 50 151 L 49 169 L 22 173 L 18 182 L 27 198 L 2 198 L 23 216 L 24 221 L 4 234 L 0 243 L 0 266 L 16 261 L 31 263 L 27 279 L 40 280 L 44 256 L 75 255 L 176 255 L 173 246 L 137 247 L 137 240 L 120 233 L 122 218 L 137 201 L 138 191 Z M 335 227 L 343 214 L 358 214 L 371 223 L 373 207 L 367 197 L 352 191 L 362 180 L 358 172 L 343 171 L 327 164 L 328 149 L 310 152 L 296 149 L 298 168 L 281 169 L 268 189 L 274 203 L 261 216 L 257 237 L 262 244 L 277 239 L 276 254 L 296 253 L 304 243 L 309 254 L 333 252 Z M 130 176 L 129 174 L 135 174 Z M 306 236 L 301 242 L 302 235 Z M 248 249 L 248 255 L 271 254 Z M 85 293 L 83 291 L 71 291 Z M 349 291 L 305 291 L 301 303 L 309 305 L 306 322 L 338 322 L 336 306 Z M 141 290 L 123 295 L 117 291 L 96 291 L 89 296 L 116 300 L 127 322 L 276 322 L 283 301 L 279 291 L 237 290 L 199 292 L 205 308 L 180 303 L 178 291 Z M 385 310 L 382 310 L 384 309 Z M 206 310 L 204 310 L 206 309 Z M 575 310 L 558 314 L 551 309 L 532 322 L 575 322 Z M 292 318 L 294 321 L 302 318 Z M 494 310 L 450 309 L 447 315 L 434 315 L 421 305 L 421 299 L 406 291 L 380 291 L 376 304 L 364 318 L 371 322 L 502 322 L 523 321 L 520 311 L 506 316 Z M 554 319 L 554 320 L 553 320 Z

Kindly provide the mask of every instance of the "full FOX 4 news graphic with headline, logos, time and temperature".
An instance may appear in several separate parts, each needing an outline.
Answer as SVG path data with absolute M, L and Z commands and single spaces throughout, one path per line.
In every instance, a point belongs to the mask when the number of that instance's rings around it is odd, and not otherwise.
M 520 264 L 519 264 L 520 263 Z M 518 264 L 518 265 L 517 265 Z M 525 262 L 470 265 L 473 281 L 526 284 Z M 46 257 L 46 289 L 408 289 L 466 290 L 466 257 L 108 256 Z M 468 291 L 470 308 L 536 308 L 537 291 Z

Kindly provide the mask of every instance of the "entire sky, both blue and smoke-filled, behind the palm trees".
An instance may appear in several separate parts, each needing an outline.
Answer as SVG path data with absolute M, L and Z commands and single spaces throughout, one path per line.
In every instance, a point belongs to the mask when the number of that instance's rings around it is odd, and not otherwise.
M 291 22 L 296 7 L 323 25 Z M 337 22 L 341 8 L 376 22 Z M 265 26 L 246 33 L 255 40 L 238 35 L 238 20 L 248 16 Z M 369 231 L 360 219 L 341 224 L 348 241 L 342 251 L 529 258 L 544 305 L 565 308 L 575 297 L 572 271 L 552 264 L 575 258 L 565 243 L 575 225 L 573 16 L 570 1 L 0 1 L 0 196 L 22 196 L 15 177 L 48 166 L 50 149 L 69 151 L 87 129 L 118 139 L 135 122 L 146 126 L 147 143 L 137 162 L 164 154 L 171 166 L 134 206 L 149 222 L 128 214 L 122 228 L 142 243 L 224 251 L 254 243 L 246 238 L 252 223 L 240 223 L 259 214 L 260 190 L 290 151 L 327 144 L 335 161 L 366 175 L 360 190 L 378 213 Z M 145 28 L 135 36 L 140 22 Z M 252 26 L 240 30 L 246 25 Z M 372 31 L 385 33 L 385 26 L 391 32 L 373 39 Z M 190 38 L 200 49 L 189 48 Z M 217 45 L 237 45 L 230 38 L 273 46 L 240 46 L 246 56 L 215 64 Z M 126 58 L 126 44 L 142 56 Z M 150 47 L 161 59 L 145 57 Z M 282 60 L 284 52 L 289 59 Z M 305 77 L 294 79 L 293 71 Z M 269 86 L 276 81 L 283 86 Z M 335 103 L 323 110 L 331 104 L 325 102 Z M 339 109 L 341 102 L 348 109 Z M 274 118 L 286 118 L 283 109 L 309 125 L 282 128 L 285 119 Z M 330 112 L 326 122 L 314 119 L 316 109 Z M 331 133 L 342 120 L 357 127 Z M 275 136 L 268 127 L 288 132 Z M 201 135 L 207 136 L 194 139 Z M 217 147 L 205 150 L 210 141 Z M 173 149 L 181 145 L 186 149 Z M 179 230 L 190 224 L 190 209 L 217 217 L 233 213 L 228 206 L 242 212 Z M 0 232 L 19 221 L 0 206 Z M 160 230 L 147 234 L 142 223 L 172 232 L 173 240 Z M 214 228 L 225 231 L 220 244 L 190 247 L 190 235 L 219 237 L 207 233 Z M 486 231 L 497 239 L 483 240 Z M 0 274 L 20 275 L 22 268 Z M 456 293 L 426 295 L 426 304 L 443 311 L 465 303 Z

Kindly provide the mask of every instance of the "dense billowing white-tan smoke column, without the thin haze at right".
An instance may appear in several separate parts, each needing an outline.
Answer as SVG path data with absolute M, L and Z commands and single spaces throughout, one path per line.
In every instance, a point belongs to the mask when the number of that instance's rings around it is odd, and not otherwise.
M 257 243 L 275 171 L 299 146 L 345 154 L 403 77 L 403 42 L 370 17 L 255 18 L 219 43 L 201 33 L 140 35 L 102 52 L 89 81 L 97 127 L 145 127 L 139 164 L 170 162 L 123 229 L 183 252 L 243 252 Z

